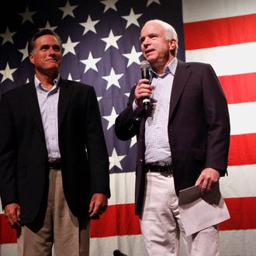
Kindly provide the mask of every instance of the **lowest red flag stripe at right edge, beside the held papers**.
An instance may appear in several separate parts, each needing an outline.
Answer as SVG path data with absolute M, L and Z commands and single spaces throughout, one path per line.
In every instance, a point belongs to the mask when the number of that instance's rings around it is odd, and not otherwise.
M 220 230 L 255 230 L 256 197 L 224 199 L 230 220 L 220 223 Z

